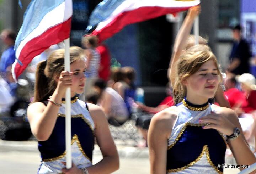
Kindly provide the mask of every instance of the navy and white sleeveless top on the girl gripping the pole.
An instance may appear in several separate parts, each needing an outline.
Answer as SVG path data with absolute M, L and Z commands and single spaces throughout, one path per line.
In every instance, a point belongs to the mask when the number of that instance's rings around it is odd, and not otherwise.
M 62 173 L 66 161 L 65 151 L 65 102 L 62 102 L 58 117 L 46 141 L 38 141 L 38 150 L 42 158 L 39 174 Z M 71 136 L 72 162 L 78 168 L 92 165 L 92 151 L 94 149 L 94 121 L 87 110 L 85 102 L 77 99 L 71 101 Z

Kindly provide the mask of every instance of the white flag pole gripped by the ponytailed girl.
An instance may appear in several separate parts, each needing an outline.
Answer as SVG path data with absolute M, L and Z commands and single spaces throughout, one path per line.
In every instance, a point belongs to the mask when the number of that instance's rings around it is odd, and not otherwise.
M 65 43 L 65 71 L 70 72 L 70 54 L 69 54 L 69 38 L 64 40 Z M 65 98 L 66 118 L 65 118 L 65 137 L 66 137 L 66 168 L 72 167 L 72 154 L 71 154 L 71 90 L 67 88 Z

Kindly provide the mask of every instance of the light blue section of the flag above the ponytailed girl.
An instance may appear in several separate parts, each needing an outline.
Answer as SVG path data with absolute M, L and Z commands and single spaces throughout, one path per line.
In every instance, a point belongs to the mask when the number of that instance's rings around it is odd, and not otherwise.
M 23 23 L 15 40 L 14 49 L 17 49 L 21 41 L 39 25 L 43 17 L 49 11 L 52 11 L 64 1 L 65 0 L 32 0 L 23 17 Z

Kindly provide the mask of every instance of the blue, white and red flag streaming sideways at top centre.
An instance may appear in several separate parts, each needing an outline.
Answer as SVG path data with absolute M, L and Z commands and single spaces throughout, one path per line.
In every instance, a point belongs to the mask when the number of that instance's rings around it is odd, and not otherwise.
M 92 12 L 87 31 L 95 28 L 91 34 L 101 42 L 128 24 L 175 14 L 198 4 L 200 0 L 105 0 Z

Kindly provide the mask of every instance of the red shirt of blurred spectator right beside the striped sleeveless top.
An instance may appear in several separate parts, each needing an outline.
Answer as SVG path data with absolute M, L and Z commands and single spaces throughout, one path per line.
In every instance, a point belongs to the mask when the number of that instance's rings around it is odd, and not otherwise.
M 110 77 L 110 52 L 105 44 L 99 45 L 96 50 L 100 53 L 99 77 L 108 81 Z

